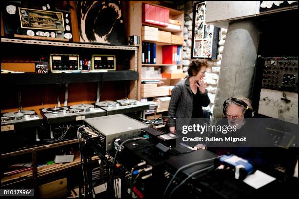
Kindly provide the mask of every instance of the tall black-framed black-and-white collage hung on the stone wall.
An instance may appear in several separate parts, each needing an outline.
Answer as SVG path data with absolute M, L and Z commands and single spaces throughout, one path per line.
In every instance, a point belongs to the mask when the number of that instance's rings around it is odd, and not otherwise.
M 219 28 L 205 22 L 206 2 L 194 4 L 192 58 L 217 58 Z

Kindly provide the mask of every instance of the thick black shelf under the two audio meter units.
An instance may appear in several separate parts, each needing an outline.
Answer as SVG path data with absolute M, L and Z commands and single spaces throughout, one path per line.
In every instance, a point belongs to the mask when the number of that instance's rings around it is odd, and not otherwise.
M 137 80 L 138 72 L 133 70 L 108 71 L 103 73 L 20 73 L 1 74 L 2 85 L 37 85 L 58 83 L 81 83 L 99 81 Z

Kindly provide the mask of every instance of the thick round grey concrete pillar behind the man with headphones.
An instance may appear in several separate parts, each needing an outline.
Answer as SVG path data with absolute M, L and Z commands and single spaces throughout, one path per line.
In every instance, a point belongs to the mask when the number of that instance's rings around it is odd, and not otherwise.
M 227 98 L 250 96 L 260 34 L 253 21 L 230 23 L 221 60 L 214 118 L 223 117 L 223 102 Z

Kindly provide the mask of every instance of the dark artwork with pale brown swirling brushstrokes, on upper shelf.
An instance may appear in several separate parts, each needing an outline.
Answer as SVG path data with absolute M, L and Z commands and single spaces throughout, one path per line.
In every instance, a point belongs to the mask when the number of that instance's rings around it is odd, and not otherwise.
M 120 1 L 76 1 L 80 42 L 125 45 Z

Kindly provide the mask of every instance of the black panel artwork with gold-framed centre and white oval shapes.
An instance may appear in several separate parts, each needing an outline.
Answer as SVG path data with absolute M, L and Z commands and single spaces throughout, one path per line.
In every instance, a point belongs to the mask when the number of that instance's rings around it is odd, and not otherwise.
M 64 11 L 57 11 L 58 4 Z M 64 40 L 72 39 L 69 2 L 7 1 L 2 7 L 6 36 Z M 37 36 L 37 37 L 36 37 Z

